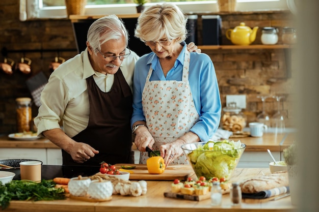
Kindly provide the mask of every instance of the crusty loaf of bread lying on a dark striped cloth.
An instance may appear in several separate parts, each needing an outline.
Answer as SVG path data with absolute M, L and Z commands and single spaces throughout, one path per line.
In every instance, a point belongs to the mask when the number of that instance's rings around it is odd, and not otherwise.
M 240 183 L 243 193 L 258 193 L 282 186 L 289 186 L 287 171 L 275 172 L 263 176 L 251 177 Z

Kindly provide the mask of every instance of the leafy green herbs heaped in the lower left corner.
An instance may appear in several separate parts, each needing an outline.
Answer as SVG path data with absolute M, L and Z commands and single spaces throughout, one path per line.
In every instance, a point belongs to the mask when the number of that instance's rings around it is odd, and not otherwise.
M 55 188 L 52 180 L 36 183 L 30 180 L 12 180 L 3 185 L 0 183 L 0 205 L 2 209 L 9 206 L 11 200 L 55 200 L 65 199 L 64 189 Z

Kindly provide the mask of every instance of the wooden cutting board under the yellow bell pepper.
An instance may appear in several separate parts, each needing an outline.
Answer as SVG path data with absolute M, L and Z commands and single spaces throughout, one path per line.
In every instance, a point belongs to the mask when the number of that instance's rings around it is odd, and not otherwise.
M 186 180 L 188 177 L 194 175 L 191 165 L 168 165 L 162 174 L 149 174 L 146 164 L 115 164 L 117 169 L 121 166 L 136 166 L 135 169 L 129 169 L 130 180 Z

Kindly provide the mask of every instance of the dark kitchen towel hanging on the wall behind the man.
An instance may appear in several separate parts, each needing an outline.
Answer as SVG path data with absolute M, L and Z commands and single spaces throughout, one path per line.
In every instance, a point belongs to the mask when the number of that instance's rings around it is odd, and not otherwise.
M 28 80 L 26 80 L 26 86 L 28 86 L 31 95 L 33 97 L 33 102 L 37 107 L 40 107 L 40 96 L 41 92 L 48 82 L 46 76 L 43 72 L 39 72 L 38 74 L 32 76 Z

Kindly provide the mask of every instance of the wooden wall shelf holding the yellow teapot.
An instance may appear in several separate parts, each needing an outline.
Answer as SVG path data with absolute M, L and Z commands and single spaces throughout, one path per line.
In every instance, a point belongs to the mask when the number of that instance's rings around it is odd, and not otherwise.
M 202 45 L 198 46 L 202 50 L 219 50 L 219 49 L 289 49 L 291 45 Z

